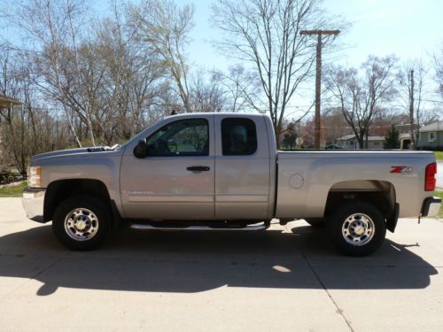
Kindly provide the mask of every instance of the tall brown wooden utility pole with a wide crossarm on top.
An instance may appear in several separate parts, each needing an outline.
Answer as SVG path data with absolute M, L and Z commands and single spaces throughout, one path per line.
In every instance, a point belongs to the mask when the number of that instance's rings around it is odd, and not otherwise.
M 315 149 L 320 149 L 320 92 L 322 89 L 322 40 L 323 35 L 338 35 L 340 30 L 301 30 L 300 35 L 317 35 L 315 75 Z

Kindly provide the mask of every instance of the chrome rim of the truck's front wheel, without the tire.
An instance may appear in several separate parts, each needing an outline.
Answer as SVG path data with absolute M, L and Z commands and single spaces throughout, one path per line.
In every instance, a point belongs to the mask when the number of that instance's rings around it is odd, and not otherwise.
M 97 215 L 85 208 L 78 207 L 67 213 L 65 231 L 75 241 L 87 241 L 97 235 Z

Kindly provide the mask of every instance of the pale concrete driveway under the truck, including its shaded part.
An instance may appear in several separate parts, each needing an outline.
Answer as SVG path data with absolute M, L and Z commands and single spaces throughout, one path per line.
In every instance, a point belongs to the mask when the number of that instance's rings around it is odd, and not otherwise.
M 123 230 L 99 251 L 1 198 L 0 331 L 441 331 L 443 220 L 400 220 L 340 256 L 295 221 L 266 232 Z

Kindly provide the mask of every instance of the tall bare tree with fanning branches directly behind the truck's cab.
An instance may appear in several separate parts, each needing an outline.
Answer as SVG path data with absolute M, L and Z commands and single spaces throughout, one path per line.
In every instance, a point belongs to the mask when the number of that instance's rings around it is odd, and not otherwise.
M 264 100 L 249 101 L 259 112 L 266 105 L 279 144 L 284 112 L 300 83 L 313 74 L 315 41 L 299 32 L 326 26 L 320 2 L 219 0 L 213 12 L 215 25 L 226 35 L 221 50 L 255 74 Z

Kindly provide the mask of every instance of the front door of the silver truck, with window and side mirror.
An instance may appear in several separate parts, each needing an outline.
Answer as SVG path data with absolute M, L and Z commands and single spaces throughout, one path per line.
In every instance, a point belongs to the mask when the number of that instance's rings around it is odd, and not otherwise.
M 171 119 L 146 137 L 146 158 L 125 153 L 120 190 L 127 218 L 214 219 L 213 130 L 213 115 Z

